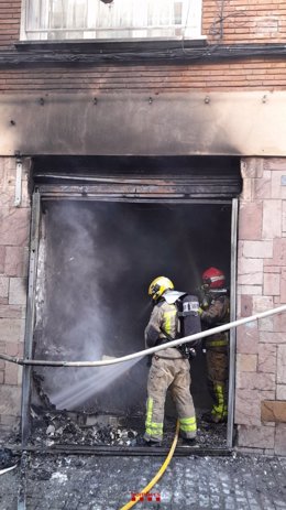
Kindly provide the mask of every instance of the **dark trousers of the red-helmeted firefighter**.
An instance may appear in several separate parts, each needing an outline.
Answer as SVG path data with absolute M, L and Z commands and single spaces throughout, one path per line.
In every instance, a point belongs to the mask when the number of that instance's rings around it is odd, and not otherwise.
M 228 416 L 228 347 L 207 348 L 208 386 L 213 398 L 211 416 L 213 422 L 226 421 Z

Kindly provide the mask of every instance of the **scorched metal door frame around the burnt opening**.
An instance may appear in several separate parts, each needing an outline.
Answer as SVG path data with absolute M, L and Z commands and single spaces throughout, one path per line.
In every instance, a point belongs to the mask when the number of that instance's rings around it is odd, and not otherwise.
M 174 180 L 176 181 L 176 178 Z M 160 203 L 160 204 L 230 204 L 231 205 L 231 232 L 230 232 L 230 245 L 231 245 L 231 272 L 230 272 L 230 305 L 231 316 L 230 321 L 237 318 L 237 251 L 238 251 L 238 198 L 188 198 L 178 193 L 176 189 L 176 183 L 172 182 L 170 188 L 166 193 L 153 193 L 147 191 L 145 187 L 143 193 L 138 193 L 136 186 L 132 186 L 132 191 L 122 194 L 122 191 L 118 194 L 114 193 L 114 187 L 111 185 L 111 193 L 108 193 L 107 187 L 105 191 L 100 189 L 100 194 L 95 193 L 95 186 L 92 189 L 87 186 L 66 186 L 66 185 L 41 185 L 33 194 L 32 202 L 32 219 L 31 219 L 31 248 L 30 248 L 30 269 L 29 269 L 29 291 L 28 291 L 28 308 L 26 308 L 26 326 L 25 326 L 25 341 L 24 341 L 24 354 L 25 358 L 32 358 L 33 348 L 33 330 L 35 321 L 35 284 L 36 284 L 36 272 L 37 272 L 37 252 L 40 241 L 40 229 L 41 229 L 41 203 L 42 200 L 61 200 L 61 199 L 78 199 L 78 200 L 92 200 L 92 202 L 141 202 L 141 203 Z M 114 185 L 114 183 L 112 183 Z M 156 183 L 158 184 L 158 183 Z M 121 187 L 120 180 L 117 183 Z M 79 189 L 84 187 L 84 189 Z M 155 185 L 156 187 L 156 185 Z M 168 186 L 167 186 L 168 187 Z M 92 193 L 89 193 L 89 192 Z M 155 195 L 155 196 L 154 196 Z M 228 395 L 228 425 L 227 425 L 227 446 L 233 446 L 234 440 L 234 390 L 235 390 L 235 343 L 237 335 L 235 328 L 230 330 L 230 350 L 229 350 L 229 395 Z M 22 445 L 26 445 L 30 428 L 30 399 L 31 399 L 31 367 L 24 366 L 23 370 L 23 386 L 22 386 Z

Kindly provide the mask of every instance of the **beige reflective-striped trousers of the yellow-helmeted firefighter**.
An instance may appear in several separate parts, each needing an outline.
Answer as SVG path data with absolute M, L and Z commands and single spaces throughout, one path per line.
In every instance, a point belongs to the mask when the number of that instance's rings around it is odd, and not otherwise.
M 166 393 L 169 389 L 179 419 L 180 436 L 194 438 L 196 414 L 190 394 L 189 361 L 184 358 L 163 359 L 153 356 L 147 381 L 146 441 L 162 441 Z

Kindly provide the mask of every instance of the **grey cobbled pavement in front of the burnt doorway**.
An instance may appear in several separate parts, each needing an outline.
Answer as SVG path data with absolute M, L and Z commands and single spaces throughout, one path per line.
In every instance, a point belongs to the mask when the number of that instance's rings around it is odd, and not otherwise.
M 16 458 L 16 457 L 15 457 Z M 19 458 L 19 457 L 18 457 Z M 21 464 L 0 476 L 0 509 L 120 510 L 151 481 L 165 456 L 29 453 L 25 507 L 18 507 Z M 23 487 L 23 486 L 22 486 Z M 139 510 L 286 510 L 286 457 L 174 456 Z M 156 500 L 157 499 L 157 500 Z

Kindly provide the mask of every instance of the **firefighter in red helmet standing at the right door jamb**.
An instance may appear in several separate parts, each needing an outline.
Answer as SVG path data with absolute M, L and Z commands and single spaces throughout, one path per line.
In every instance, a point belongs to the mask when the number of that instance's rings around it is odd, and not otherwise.
M 227 324 L 230 319 L 229 291 L 226 276 L 217 268 L 202 273 L 202 299 L 200 319 L 204 329 Z M 210 423 L 223 423 L 228 419 L 229 332 L 206 337 L 204 350 L 207 356 L 208 387 L 213 405 L 202 419 Z

